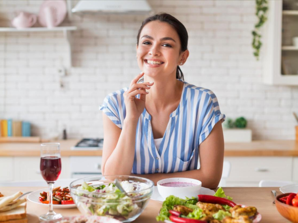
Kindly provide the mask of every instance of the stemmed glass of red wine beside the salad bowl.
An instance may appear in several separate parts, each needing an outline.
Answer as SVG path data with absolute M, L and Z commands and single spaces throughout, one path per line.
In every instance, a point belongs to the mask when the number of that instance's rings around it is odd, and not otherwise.
M 40 172 L 49 185 L 49 211 L 39 216 L 42 221 L 62 218 L 61 214 L 53 211 L 53 187 L 61 173 L 60 143 L 43 143 L 40 151 Z

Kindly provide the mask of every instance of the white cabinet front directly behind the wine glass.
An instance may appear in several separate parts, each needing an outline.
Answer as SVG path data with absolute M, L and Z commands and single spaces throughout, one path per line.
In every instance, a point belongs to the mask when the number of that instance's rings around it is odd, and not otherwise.
M 71 178 L 69 158 L 62 157 L 59 179 Z M 40 174 L 40 157 L 14 157 L 14 181 L 43 180 Z

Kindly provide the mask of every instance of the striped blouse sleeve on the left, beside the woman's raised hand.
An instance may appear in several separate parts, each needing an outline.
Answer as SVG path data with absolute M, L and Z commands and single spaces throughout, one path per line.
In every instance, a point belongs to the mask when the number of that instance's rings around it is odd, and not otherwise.
M 99 106 L 99 110 L 103 111 L 115 125 L 122 129 L 118 104 L 117 95 L 110 94 L 105 97 L 103 104 Z

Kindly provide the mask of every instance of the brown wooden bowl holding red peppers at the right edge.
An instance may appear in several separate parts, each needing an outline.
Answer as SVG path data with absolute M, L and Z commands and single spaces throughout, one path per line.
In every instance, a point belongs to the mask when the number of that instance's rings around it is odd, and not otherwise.
M 290 193 L 280 194 L 275 197 L 275 206 L 278 212 L 290 222 L 298 223 L 298 207 L 294 207 L 291 205 L 284 204 L 279 201 L 281 197 L 285 197 Z

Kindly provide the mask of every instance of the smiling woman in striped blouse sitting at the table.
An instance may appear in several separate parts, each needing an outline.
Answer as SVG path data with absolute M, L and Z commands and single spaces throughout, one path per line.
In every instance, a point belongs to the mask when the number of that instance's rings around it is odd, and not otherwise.
M 204 187 L 218 186 L 225 117 L 212 91 L 183 81 L 179 65 L 189 56 L 187 42 L 184 25 L 169 14 L 143 21 L 136 56 L 143 72 L 100 107 L 103 175 L 138 175 L 155 184 L 188 177 Z

